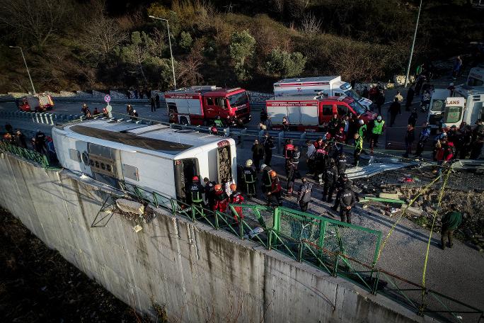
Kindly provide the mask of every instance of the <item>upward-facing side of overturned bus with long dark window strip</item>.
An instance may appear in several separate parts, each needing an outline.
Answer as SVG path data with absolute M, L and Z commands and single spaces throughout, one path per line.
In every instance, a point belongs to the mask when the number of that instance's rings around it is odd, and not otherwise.
M 195 130 L 178 130 L 168 125 L 139 125 L 110 120 L 88 120 L 75 125 L 67 125 L 64 131 L 78 135 L 108 140 L 117 144 L 151 150 L 171 156 L 197 149 L 204 145 L 220 142 L 221 137 Z M 96 140 L 91 140 L 96 144 Z M 99 145 L 103 145 L 99 143 Z

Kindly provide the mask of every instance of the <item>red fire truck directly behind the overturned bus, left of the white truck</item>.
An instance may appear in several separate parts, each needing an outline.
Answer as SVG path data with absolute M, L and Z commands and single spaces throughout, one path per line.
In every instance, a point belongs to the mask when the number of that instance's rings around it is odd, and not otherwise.
M 241 88 L 190 86 L 165 93 L 170 123 L 211 125 L 220 118 L 224 126 L 250 121 L 247 91 Z

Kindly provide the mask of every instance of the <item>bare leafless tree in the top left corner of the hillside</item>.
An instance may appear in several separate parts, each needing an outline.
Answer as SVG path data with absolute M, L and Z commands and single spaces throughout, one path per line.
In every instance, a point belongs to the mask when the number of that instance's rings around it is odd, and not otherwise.
M 0 24 L 42 47 L 67 23 L 71 0 L 0 0 Z

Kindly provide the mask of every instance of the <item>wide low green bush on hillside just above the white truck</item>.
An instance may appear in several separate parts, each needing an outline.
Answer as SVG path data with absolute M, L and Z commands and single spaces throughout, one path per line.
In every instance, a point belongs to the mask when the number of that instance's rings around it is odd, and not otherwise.
M 265 69 L 277 77 L 296 77 L 304 71 L 306 58 L 300 52 L 286 52 L 276 48 L 270 52 Z

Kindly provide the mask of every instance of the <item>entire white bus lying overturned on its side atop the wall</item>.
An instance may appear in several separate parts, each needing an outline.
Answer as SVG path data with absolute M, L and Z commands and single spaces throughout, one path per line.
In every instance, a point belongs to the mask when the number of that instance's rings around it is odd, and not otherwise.
M 89 120 L 52 129 L 60 164 L 119 187 L 185 200 L 185 186 L 197 175 L 219 183 L 236 181 L 236 146 L 231 138 L 166 125 Z

